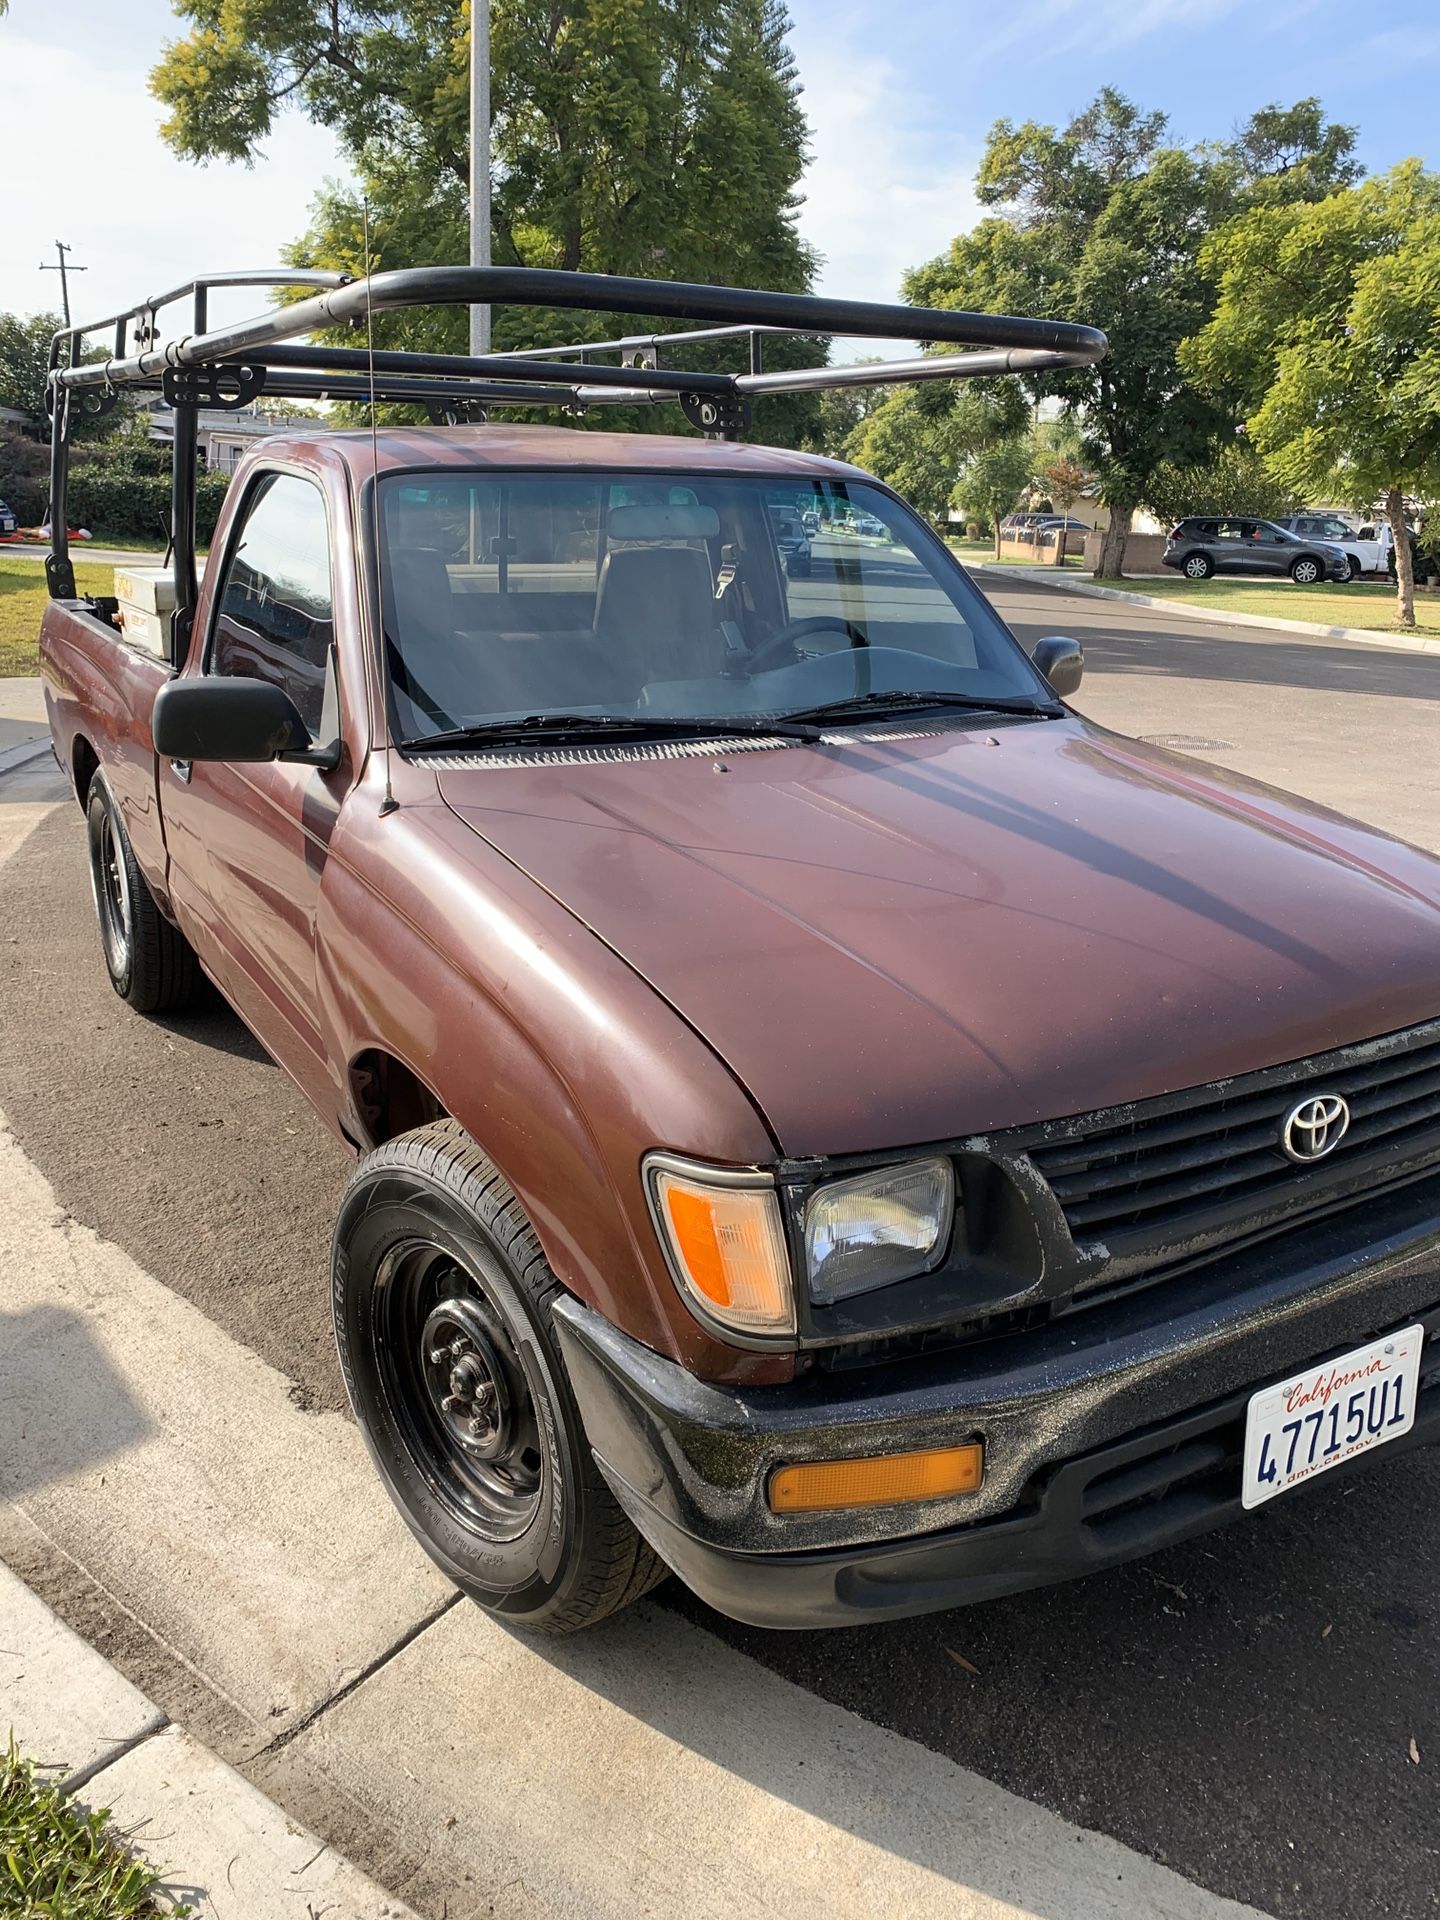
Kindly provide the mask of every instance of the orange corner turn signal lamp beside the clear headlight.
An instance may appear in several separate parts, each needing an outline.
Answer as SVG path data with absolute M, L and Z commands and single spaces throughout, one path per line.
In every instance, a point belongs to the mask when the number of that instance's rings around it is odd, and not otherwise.
M 774 1181 L 670 1154 L 651 1154 L 645 1179 L 670 1271 L 699 1319 L 747 1334 L 795 1332 Z

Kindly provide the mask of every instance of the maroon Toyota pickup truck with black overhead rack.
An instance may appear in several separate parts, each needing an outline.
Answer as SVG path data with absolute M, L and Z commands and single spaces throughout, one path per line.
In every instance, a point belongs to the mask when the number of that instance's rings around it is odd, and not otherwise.
M 607 282 L 751 372 L 284 344 L 413 280 L 121 323 L 104 378 L 177 407 L 169 657 L 61 536 L 42 660 L 115 991 L 205 975 L 357 1156 L 340 1359 L 434 1559 L 551 1632 L 666 1569 L 852 1624 L 1434 1438 L 1440 864 L 1089 724 L 1077 645 L 1027 659 L 895 493 L 733 438 L 797 384 L 762 328 L 922 323 L 954 376 L 1104 340 Z M 273 440 L 196 584 L 194 407 L 257 380 L 680 396 L 708 438 Z

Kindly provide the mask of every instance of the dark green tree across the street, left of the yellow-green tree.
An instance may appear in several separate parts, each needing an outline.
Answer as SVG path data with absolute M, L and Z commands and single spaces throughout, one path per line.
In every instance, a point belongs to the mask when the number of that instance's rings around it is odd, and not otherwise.
M 1164 115 L 1114 88 L 1062 131 L 998 121 L 979 169 L 979 198 L 996 211 L 906 278 L 925 305 L 1073 317 L 1110 336 L 1100 367 L 1043 382 L 1077 419 L 1110 505 L 1104 578 L 1123 570 L 1156 468 L 1204 459 L 1235 424 L 1177 359 L 1210 317 L 1206 236 L 1240 205 L 1325 192 L 1354 173 L 1354 132 L 1327 125 L 1313 100 L 1265 108 L 1219 146 L 1164 140 Z

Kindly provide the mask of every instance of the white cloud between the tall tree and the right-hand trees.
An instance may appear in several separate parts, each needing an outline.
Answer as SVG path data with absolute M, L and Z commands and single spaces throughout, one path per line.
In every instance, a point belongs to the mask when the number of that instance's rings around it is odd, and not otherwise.
M 979 217 L 979 148 L 935 125 L 874 40 L 874 13 L 795 29 L 812 127 L 801 232 L 824 253 L 820 290 L 849 300 L 899 300 L 906 267 Z

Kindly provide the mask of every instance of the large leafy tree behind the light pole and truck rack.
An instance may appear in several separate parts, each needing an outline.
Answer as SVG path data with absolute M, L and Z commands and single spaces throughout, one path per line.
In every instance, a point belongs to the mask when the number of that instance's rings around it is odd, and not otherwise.
M 294 106 L 355 167 L 361 192 L 326 188 L 292 261 L 361 273 L 363 202 L 372 265 L 468 257 L 468 0 L 177 10 L 190 33 L 152 75 L 177 152 L 250 159 Z M 808 288 L 816 259 L 795 225 L 806 123 L 787 31 L 781 0 L 493 0 L 495 265 Z M 497 349 L 614 330 L 576 313 L 495 313 Z M 463 351 L 465 336 L 457 307 L 376 319 L 382 346 Z M 814 351 L 774 342 L 766 363 Z M 737 369 L 739 353 L 708 359 Z M 814 417 L 814 401 L 764 409 L 797 430 Z M 643 424 L 659 424 L 653 409 Z

